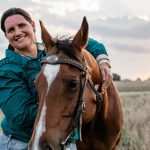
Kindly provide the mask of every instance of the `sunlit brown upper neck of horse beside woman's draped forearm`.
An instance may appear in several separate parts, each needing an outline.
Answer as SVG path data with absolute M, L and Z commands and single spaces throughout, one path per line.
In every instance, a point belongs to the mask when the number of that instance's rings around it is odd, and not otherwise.
M 96 62 L 95 58 L 87 51 L 83 50 L 83 55 L 85 56 L 86 62 L 87 62 L 87 67 L 89 74 L 91 75 L 91 79 L 93 83 L 101 85 L 102 78 L 101 78 L 101 73 L 99 69 L 99 65 Z

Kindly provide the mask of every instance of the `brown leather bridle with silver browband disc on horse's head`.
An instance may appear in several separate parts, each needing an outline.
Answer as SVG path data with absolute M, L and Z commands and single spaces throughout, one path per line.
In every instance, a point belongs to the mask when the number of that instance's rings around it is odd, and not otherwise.
M 93 84 L 93 82 L 87 77 L 87 67 L 70 58 L 64 58 L 64 57 L 58 57 L 57 55 L 51 55 L 51 56 L 46 56 L 43 61 L 41 62 L 42 64 L 51 64 L 51 65 L 56 65 L 56 64 L 68 64 L 72 65 L 76 68 L 78 68 L 81 71 L 81 77 L 80 77 L 80 91 L 79 91 L 79 98 L 78 98 L 78 106 L 76 109 L 76 114 L 74 117 L 73 124 L 71 126 L 71 130 L 66 137 L 64 141 L 61 142 L 61 147 L 62 150 L 64 150 L 64 146 L 70 142 L 70 137 L 75 133 L 75 130 L 78 129 L 79 131 L 79 140 L 82 141 L 82 134 L 81 134 L 81 128 L 82 128 L 82 114 L 85 110 L 85 101 L 83 99 L 83 92 L 85 88 L 86 82 L 89 83 L 91 89 L 93 92 L 96 94 L 96 102 L 97 102 L 97 110 L 99 111 L 101 108 L 101 103 L 103 100 L 102 94 L 99 93 Z

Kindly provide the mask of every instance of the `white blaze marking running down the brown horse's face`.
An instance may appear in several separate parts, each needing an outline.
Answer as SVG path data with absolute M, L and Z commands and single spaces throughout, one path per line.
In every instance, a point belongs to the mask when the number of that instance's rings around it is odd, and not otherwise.
M 49 91 L 49 88 L 54 81 L 56 75 L 58 74 L 60 69 L 60 65 L 45 65 L 43 74 L 45 75 L 47 79 L 47 93 Z M 44 105 L 41 111 L 40 119 L 39 122 L 37 123 L 36 126 L 36 133 L 35 133 L 35 139 L 33 143 L 33 150 L 39 150 L 39 140 L 43 132 L 45 132 L 45 115 L 46 115 L 46 105 L 44 101 Z

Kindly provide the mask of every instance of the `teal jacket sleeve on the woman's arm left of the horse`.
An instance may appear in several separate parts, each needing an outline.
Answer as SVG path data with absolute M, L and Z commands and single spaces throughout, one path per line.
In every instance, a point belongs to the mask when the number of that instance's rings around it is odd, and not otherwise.
M 34 124 L 38 105 L 23 79 L 0 71 L 0 107 L 14 126 L 28 127 Z

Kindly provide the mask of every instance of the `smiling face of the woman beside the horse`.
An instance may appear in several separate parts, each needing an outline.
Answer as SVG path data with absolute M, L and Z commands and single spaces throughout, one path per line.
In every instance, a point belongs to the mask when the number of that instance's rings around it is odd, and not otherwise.
M 30 50 L 35 44 L 34 22 L 29 23 L 22 15 L 12 15 L 4 22 L 6 37 L 17 50 Z

